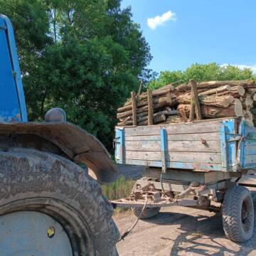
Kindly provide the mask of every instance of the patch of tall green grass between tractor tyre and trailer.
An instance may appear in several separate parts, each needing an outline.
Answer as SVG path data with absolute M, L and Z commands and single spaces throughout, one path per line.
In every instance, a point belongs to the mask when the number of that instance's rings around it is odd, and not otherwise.
M 129 197 L 135 181 L 119 176 L 117 181 L 102 186 L 102 193 L 108 200 L 116 200 Z

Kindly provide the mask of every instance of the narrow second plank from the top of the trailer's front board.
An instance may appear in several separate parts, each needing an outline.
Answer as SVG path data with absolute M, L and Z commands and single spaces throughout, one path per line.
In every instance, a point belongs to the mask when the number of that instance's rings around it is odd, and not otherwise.
M 219 141 L 219 132 L 205 132 L 198 134 L 168 134 L 169 141 L 201 141 L 205 139 L 208 141 Z M 139 136 L 125 136 L 125 141 L 160 141 L 160 135 L 139 135 Z

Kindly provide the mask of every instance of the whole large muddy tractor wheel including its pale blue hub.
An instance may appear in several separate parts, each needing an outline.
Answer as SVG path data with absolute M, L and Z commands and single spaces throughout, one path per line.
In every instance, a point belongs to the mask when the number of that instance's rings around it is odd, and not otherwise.
M 117 255 L 100 185 L 54 154 L 0 151 L 0 223 L 0 255 Z

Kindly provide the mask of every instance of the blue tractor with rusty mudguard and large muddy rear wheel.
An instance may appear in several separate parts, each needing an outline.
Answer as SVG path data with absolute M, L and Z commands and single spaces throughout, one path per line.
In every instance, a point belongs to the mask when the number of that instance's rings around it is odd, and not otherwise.
M 63 110 L 28 122 L 13 28 L 0 14 L 0 255 L 117 255 L 99 185 L 116 176 L 105 147 Z

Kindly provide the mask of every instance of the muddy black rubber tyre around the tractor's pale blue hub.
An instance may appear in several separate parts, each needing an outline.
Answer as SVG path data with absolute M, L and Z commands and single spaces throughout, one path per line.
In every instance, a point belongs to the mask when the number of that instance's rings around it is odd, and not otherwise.
M 62 232 L 67 234 L 70 241 L 70 256 L 118 255 L 115 245 L 119 231 L 112 220 L 112 206 L 102 196 L 97 181 L 68 159 L 34 149 L 0 151 L 1 238 L 1 228 L 4 226 L 2 220 L 6 216 L 11 219 L 12 215 L 22 214 L 21 211 L 24 215 L 31 212 L 47 215 L 47 218 L 50 216 L 60 224 Z M 26 232 L 30 232 L 33 237 L 36 231 L 25 229 Z M 49 234 L 52 236 L 53 230 Z M 42 239 L 44 235 L 41 235 Z M 3 246 L 7 245 L 1 245 L 0 241 L 1 251 Z M 18 251 L 12 249 L 11 255 L 27 255 L 23 254 L 22 242 L 17 246 Z M 37 252 L 33 247 L 36 245 L 31 242 L 29 246 L 29 252 Z M 42 255 L 55 255 L 46 250 L 48 253 L 43 251 Z

